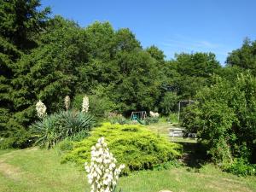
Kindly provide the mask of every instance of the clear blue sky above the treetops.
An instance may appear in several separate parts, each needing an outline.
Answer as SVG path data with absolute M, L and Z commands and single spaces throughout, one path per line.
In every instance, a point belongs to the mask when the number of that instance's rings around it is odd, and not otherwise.
M 244 38 L 256 40 L 255 0 L 42 0 L 53 15 L 80 26 L 109 21 L 115 29 L 128 27 L 143 47 L 175 53 L 213 52 L 224 65 L 228 53 Z

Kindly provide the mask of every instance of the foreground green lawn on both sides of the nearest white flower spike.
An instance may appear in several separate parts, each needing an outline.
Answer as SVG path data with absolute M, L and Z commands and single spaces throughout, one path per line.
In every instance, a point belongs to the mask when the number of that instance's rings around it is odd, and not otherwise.
M 0 192 L 89 191 L 85 172 L 71 164 L 60 164 L 56 150 L 27 148 L 0 151 Z M 256 177 L 236 177 L 207 165 L 163 171 L 145 171 L 121 177 L 123 192 L 256 191 Z

